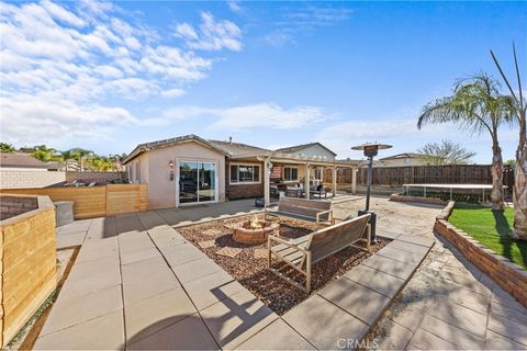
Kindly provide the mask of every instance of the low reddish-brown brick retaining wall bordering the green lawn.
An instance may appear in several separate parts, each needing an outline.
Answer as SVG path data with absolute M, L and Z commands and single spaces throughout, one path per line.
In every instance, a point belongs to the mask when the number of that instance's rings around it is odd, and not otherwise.
M 527 307 L 527 271 L 487 249 L 440 216 L 436 218 L 434 230 L 452 244 L 480 271 Z

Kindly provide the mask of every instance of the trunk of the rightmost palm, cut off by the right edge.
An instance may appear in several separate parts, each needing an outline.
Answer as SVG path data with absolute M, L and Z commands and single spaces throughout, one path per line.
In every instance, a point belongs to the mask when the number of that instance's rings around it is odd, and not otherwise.
M 522 113 L 522 112 L 519 112 Z M 527 240 L 527 140 L 525 111 L 519 120 L 519 143 L 514 170 L 514 237 Z

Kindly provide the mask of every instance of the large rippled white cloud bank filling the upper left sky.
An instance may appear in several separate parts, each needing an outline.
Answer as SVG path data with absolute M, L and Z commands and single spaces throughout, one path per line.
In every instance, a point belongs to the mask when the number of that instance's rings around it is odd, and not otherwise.
M 162 123 L 141 121 L 121 98 L 181 97 L 180 87 L 204 79 L 214 57 L 128 18 L 102 1 L 0 2 L 1 139 L 55 144 Z M 234 23 L 206 13 L 194 45 L 236 49 L 239 36 Z

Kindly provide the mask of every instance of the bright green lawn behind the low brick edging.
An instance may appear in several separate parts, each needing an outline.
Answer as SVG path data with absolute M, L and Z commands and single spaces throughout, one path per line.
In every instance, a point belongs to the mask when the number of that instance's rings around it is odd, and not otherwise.
M 509 236 L 514 223 L 513 208 L 501 212 L 460 204 L 456 205 L 448 222 L 494 252 L 527 269 L 527 241 L 515 241 Z

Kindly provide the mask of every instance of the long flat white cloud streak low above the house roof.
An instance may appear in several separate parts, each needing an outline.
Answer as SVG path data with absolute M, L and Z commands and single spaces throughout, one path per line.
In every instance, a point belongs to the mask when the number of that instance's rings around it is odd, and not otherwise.
M 162 114 L 166 123 L 171 120 L 214 117 L 212 128 L 220 129 L 298 129 L 307 124 L 322 123 L 324 111 L 315 106 L 284 109 L 272 103 L 212 109 L 200 106 L 178 106 Z

